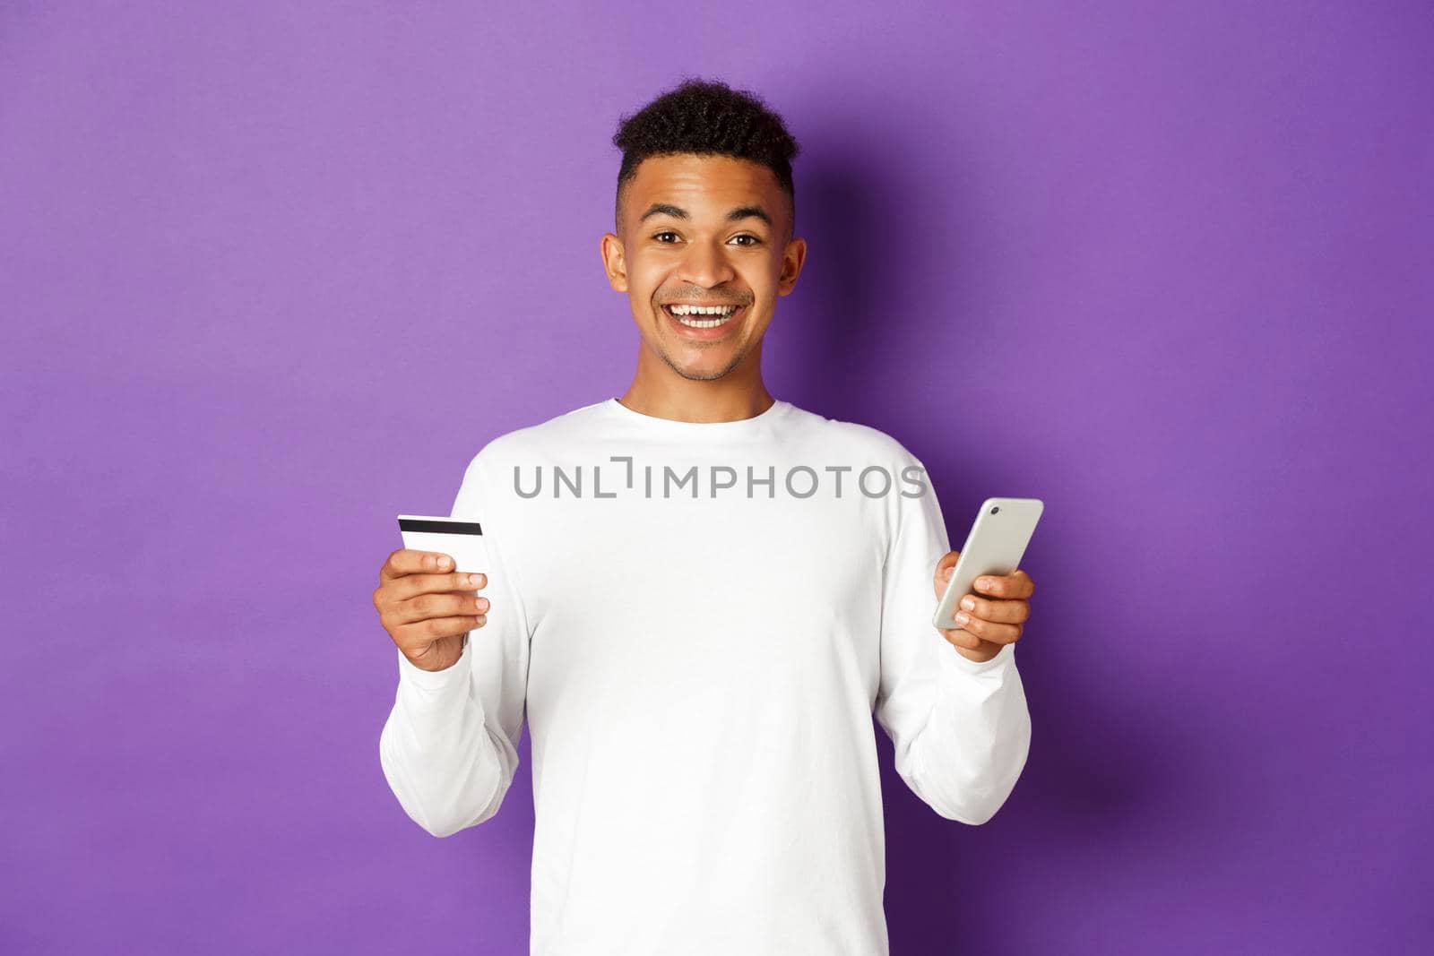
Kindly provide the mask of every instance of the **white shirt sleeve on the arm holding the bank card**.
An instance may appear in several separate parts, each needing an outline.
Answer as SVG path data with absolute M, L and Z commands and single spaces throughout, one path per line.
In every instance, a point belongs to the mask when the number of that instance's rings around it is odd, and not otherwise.
M 469 463 L 453 517 L 490 530 L 493 502 L 483 453 Z M 467 634 L 457 662 L 443 671 L 414 666 L 402 651 L 399 689 L 379 735 L 389 788 L 404 813 L 436 837 L 478 826 L 498 813 L 518 770 L 528 692 L 529 629 L 518 582 L 498 537 L 489 556 L 488 622 Z

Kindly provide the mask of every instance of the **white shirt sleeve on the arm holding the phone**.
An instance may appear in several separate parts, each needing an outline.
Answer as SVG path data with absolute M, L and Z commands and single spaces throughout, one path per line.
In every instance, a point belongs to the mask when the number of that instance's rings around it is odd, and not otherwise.
M 916 459 L 909 459 L 925 473 Z M 1031 745 L 1031 715 L 1008 644 L 977 664 L 931 623 L 932 576 L 951 550 L 931 487 L 896 497 L 882 573 L 876 718 L 895 745 L 896 773 L 946 820 L 982 824 L 1015 787 Z M 911 492 L 908 492 L 911 494 Z

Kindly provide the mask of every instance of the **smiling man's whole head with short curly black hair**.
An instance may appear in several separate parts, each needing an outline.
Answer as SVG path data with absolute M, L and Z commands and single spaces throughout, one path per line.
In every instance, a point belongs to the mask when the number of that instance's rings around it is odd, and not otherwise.
M 793 238 L 797 142 L 751 93 L 685 80 L 624 116 L 612 143 L 622 166 L 602 259 L 642 335 L 640 371 L 651 358 L 688 380 L 754 371 L 806 257 Z M 681 315 L 674 304 L 736 310 Z

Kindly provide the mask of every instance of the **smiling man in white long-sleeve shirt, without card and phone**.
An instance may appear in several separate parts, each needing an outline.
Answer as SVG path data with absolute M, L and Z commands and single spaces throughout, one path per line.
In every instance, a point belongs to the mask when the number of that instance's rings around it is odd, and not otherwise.
M 782 119 L 690 80 L 614 143 L 637 373 L 472 459 L 452 515 L 490 575 L 389 555 L 384 775 L 435 836 L 483 823 L 526 717 L 533 956 L 885 955 L 872 714 L 912 791 L 985 823 L 1030 745 L 1032 582 L 978 580 L 934 629 L 956 552 L 921 462 L 767 393 L 806 257 Z

